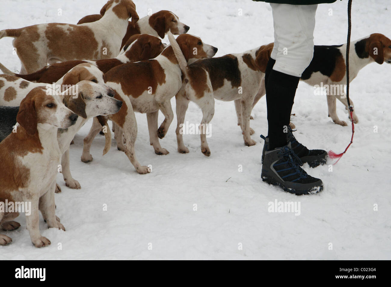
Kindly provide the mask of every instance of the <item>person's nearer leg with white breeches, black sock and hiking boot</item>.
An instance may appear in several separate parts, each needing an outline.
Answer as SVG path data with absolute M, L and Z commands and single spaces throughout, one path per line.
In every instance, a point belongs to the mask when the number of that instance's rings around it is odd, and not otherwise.
M 270 5 L 274 48 L 265 71 L 269 137 L 265 139 L 262 180 L 290 193 L 316 193 L 323 189 L 323 183 L 301 169 L 300 157 L 287 134 L 291 132 L 289 121 L 296 88 L 313 56 L 317 5 Z

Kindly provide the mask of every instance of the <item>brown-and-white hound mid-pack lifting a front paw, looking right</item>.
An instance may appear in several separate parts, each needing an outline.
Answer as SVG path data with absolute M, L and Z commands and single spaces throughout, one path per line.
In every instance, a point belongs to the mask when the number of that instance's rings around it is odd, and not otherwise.
M 193 35 L 179 35 L 176 41 L 186 61 L 213 57 L 217 52 L 217 48 L 203 43 L 199 37 Z M 156 59 L 123 64 L 111 69 L 104 76 L 106 84 L 116 92 L 115 98 L 123 102 L 120 111 L 109 116 L 109 119 L 117 124 L 117 148 L 126 153 L 138 173 L 144 174 L 150 170 L 147 166 L 141 166 L 135 156 L 137 123 L 134 112 L 147 114 L 149 140 L 155 153 L 168 154 L 169 152 L 160 146 L 159 138 L 165 136 L 174 118 L 170 99 L 181 88 L 181 76 L 181 69 L 172 46 L 167 46 Z M 165 119 L 158 128 L 159 110 Z M 100 129 L 99 123 L 94 121 L 90 133 L 84 139 L 81 158 L 84 162 L 92 160 L 91 143 Z

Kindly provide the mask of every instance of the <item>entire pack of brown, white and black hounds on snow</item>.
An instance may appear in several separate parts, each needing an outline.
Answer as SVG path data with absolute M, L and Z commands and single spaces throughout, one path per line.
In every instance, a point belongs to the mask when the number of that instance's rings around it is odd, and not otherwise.
M 273 43 L 213 57 L 217 48 L 186 34 L 189 29 L 173 12 L 159 11 L 139 19 L 131 0 L 109 0 L 100 14 L 85 16 L 77 24 L 46 23 L 0 31 L 0 38 L 14 38 L 22 62 L 20 74 L 0 63 L 4 73 L 0 75 L 0 203 L 31 202 L 26 223 L 34 246 L 50 244 L 39 232 L 39 211 L 49 228 L 65 230 L 55 214 L 55 193 L 61 191 L 56 174 L 61 164 L 66 186 L 81 188 L 70 172 L 69 150 L 88 119 L 93 118 L 93 124 L 84 139 L 81 160 L 93 160 L 90 147 L 102 129 L 104 153 L 108 152 L 111 120 L 118 150 L 125 152 L 140 174 L 150 169 L 136 158 L 135 112 L 147 115 L 154 152 L 167 155 L 160 139 L 174 118 L 170 103 L 174 96 L 179 153 L 189 152 L 180 127 L 190 101 L 202 110 L 204 155 L 211 155 L 204 129 L 213 118 L 215 99 L 235 103 L 244 144 L 256 144 L 251 139 L 251 111 L 265 94 L 264 71 Z M 170 45 L 161 42 L 165 34 Z M 173 34 L 179 36 L 175 39 Z M 350 47 L 350 80 L 371 62 L 391 63 L 391 40 L 382 34 L 353 41 Z M 301 80 L 311 86 L 346 84 L 345 55 L 346 44 L 315 46 Z M 331 93 L 326 97 L 328 116 L 336 124 L 347 125 L 336 114 L 336 100 L 346 107 L 346 98 Z M 160 126 L 159 111 L 165 117 Z M 353 120 L 358 122 L 355 113 Z M 18 215 L 16 210 L 0 209 L 1 228 L 20 227 L 13 221 Z M 0 234 L 0 245 L 11 242 Z

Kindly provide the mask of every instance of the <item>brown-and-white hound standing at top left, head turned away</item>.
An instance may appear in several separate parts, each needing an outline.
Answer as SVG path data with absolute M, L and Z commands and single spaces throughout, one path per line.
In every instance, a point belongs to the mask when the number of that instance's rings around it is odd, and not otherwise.
M 104 16 L 81 25 L 45 23 L 0 31 L 2 37 L 14 37 L 13 46 L 22 62 L 21 74 L 32 73 L 48 63 L 79 59 L 108 59 L 118 55 L 128 20 L 138 21 L 132 0 L 109 0 Z

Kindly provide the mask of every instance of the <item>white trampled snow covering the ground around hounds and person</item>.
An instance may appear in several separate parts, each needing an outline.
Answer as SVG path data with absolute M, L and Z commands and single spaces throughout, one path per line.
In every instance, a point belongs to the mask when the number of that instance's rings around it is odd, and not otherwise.
M 97 14 L 105 2 L 3 0 L 0 29 L 76 23 L 85 15 Z M 219 48 L 216 56 L 273 41 L 271 8 L 266 3 L 135 0 L 135 4 L 140 17 L 148 9 L 173 11 L 190 26 L 191 34 Z M 346 7 L 347 1 L 319 5 L 316 44 L 346 42 Z M 62 9 L 62 16 L 57 16 L 57 9 Z M 328 15 L 329 9 L 333 16 Z M 391 37 L 390 10 L 387 0 L 353 1 L 352 40 L 375 32 Z M 11 42 L 11 38 L 0 40 L 0 62 L 18 70 L 20 62 L 12 54 Z M 25 216 L 20 216 L 22 227 L 5 232 L 13 244 L 0 248 L 0 259 L 391 259 L 390 76 L 391 66 L 373 63 L 352 82 L 350 94 L 360 119 L 354 143 L 332 172 L 328 165 L 310 169 L 305 164 L 325 186 L 323 192 L 310 196 L 285 193 L 260 179 L 263 141 L 259 135 L 267 133 L 265 98 L 252 113 L 252 138 L 257 144 L 251 147 L 244 146 L 233 103 L 216 101 L 209 158 L 200 151 L 198 135 L 184 135 L 190 153 L 176 152 L 176 118 L 161 140 L 170 154 L 155 155 L 149 146 L 146 117 L 136 114 L 136 152 L 141 164 L 152 165 L 148 175 L 136 173 L 115 140 L 102 157 L 102 136 L 91 149 L 93 162 L 81 162 L 83 138 L 90 128 L 87 123 L 70 151 L 72 174 L 82 189 L 69 189 L 62 175 L 57 176 L 63 192 L 56 194 L 56 214 L 66 232 L 48 230 L 41 218 L 42 235 L 52 245 L 34 248 Z M 172 105 L 175 109 L 174 100 Z M 313 88 L 305 83 L 299 84 L 292 112 L 295 135 L 308 147 L 342 152 L 349 143 L 351 128 L 332 123 L 326 98 L 314 96 Z M 347 121 L 341 103 L 337 112 Z M 186 120 L 199 123 L 201 117 L 191 103 Z M 161 114 L 159 119 L 163 120 Z M 268 203 L 275 200 L 300 203 L 300 215 L 268 212 Z

